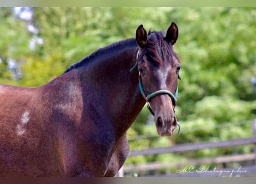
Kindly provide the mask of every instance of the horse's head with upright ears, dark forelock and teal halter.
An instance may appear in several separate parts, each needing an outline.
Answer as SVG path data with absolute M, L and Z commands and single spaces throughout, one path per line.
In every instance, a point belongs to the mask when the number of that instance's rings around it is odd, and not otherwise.
M 171 23 L 166 36 L 162 32 L 147 34 L 142 25 L 136 30 L 139 45 L 137 67 L 140 90 L 154 115 L 156 129 L 161 136 L 170 136 L 177 127 L 174 108 L 181 64 L 173 50 L 178 39 L 178 27 Z

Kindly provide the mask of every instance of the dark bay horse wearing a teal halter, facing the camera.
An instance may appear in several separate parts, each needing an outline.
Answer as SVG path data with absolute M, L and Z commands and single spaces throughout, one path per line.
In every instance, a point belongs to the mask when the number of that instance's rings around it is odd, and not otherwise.
M 158 134 L 172 135 L 177 38 L 174 23 L 166 34 L 140 25 L 135 39 L 98 49 L 43 86 L 0 85 L 0 177 L 113 177 L 146 102 Z

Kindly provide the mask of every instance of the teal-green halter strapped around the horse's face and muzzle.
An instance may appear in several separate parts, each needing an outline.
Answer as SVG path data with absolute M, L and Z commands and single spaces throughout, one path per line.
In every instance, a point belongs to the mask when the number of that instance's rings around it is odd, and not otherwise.
M 136 54 L 136 63 L 135 65 L 131 68 L 130 72 L 133 72 L 135 70 L 135 68 L 137 67 L 137 64 L 138 64 L 138 57 L 139 57 L 139 51 L 137 51 L 137 54 Z M 178 74 L 178 79 L 181 79 L 181 76 L 179 76 Z M 151 106 L 150 106 L 150 100 L 151 98 L 155 97 L 156 95 L 159 95 L 159 94 L 167 94 L 169 95 L 169 97 L 171 98 L 171 101 L 173 102 L 173 105 L 175 107 L 175 105 L 177 104 L 177 98 L 178 98 L 178 87 L 175 91 L 175 94 L 171 93 L 171 91 L 168 91 L 168 90 L 158 90 L 158 91 L 155 91 L 149 95 L 146 94 L 146 91 L 144 90 L 143 88 L 143 84 L 142 84 L 142 75 L 140 74 L 139 72 L 139 87 L 140 87 L 140 93 L 142 93 L 142 96 L 144 97 L 144 99 L 146 99 L 146 102 L 147 102 L 147 108 L 148 110 L 150 111 L 150 113 L 155 116 L 153 110 L 151 109 Z M 175 110 L 174 110 L 174 113 L 175 113 Z M 179 127 L 179 130 L 178 130 L 178 134 L 181 133 L 181 125 L 179 124 L 179 122 L 177 121 L 177 125 Z

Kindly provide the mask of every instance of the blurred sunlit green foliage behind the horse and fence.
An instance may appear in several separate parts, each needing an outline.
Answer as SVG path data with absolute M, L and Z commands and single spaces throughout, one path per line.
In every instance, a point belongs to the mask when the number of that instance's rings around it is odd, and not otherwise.
M 137 26 L 163 30 L 175 22 L 181 57 L 178 106 L 182 133 L 159 137 L 144 108 L 128 131 L 131 150 L 253 137 L 256 117 L 254 7 L 0 7 L 0 83 L 36 87 L 61 75 L 100 47 L 135 37 Z M 121 61 L 120 61 L 121 62 Z M 190 160 L 249 155 L 254 144 L 130 156 L 125 167 L 171 163 L 125 176 L 175 173 Z M 254 155 L 255 156 L 255 155 Z M 184 166 L 178 163 L 184 163 Z M 254 164 L 254 159 L 202 163 L 209 168 Z

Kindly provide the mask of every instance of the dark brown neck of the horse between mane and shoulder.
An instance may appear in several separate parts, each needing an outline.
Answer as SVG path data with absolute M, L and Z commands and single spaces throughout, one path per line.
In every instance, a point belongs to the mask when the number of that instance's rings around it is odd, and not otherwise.
M 126 132 L 144 106 L 138 72 L 129 70 L 136 61 L 136 48 L 129 48 L 109 58 L 92 61 L 79 70 L 83 101 L 93 104 L 113 121 L 118 132 Z M 104 109 L 104 110 L 102 110 Z

